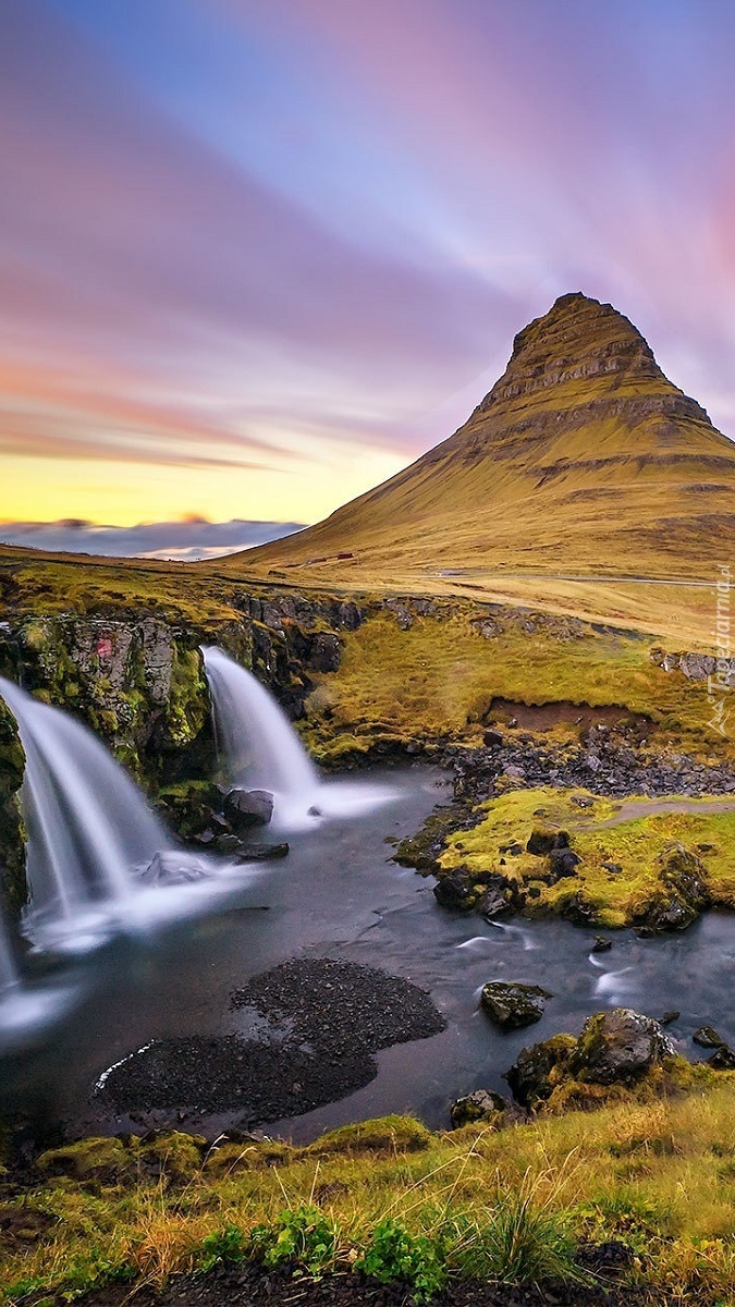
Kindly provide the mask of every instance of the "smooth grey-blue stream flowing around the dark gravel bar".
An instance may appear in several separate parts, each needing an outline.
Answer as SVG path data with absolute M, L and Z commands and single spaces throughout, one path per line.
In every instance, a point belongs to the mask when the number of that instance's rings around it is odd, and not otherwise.
M 56 992 L 73 993 L 73 1002 L 65 1012 L 59 1002 L 58 1018 L 0 1061 L 0 1111 L 22 1111 L 42 1128 L 63 1123 L 75 1136 L 140 1131 L 135 1117 L 112 1115 L 95 1100 L 105 1070 L 153 1039 L 238 1033 L 231 991 L 290 958 L 339 958 L 409 979 L 430 991 L 447 1021 L 438 1035 L 377 1053 L 377 1077 L 349 1097 L 264 1127 L 297 1142 L 387 1112 L 447 1127 L 455 1098 L 479 1087 L 504 1093 L 502 1073 L 522 1047 L 560 1030 L 578 1033 L 603 1008 L 625 1005 L 654 1017 L 680 1009 L 668 1033 L 689 1057 L 702 1056 L 691 1043 L 701 1025 L 735 1042 L 732 916 L 709 914 L 681 936 L 612 932 L 612 950 L 592 954 L 594 932 L 565 921 L 490 924 L 449 914 L 436 903 L 433 880 L 392 863 L 386 843 L 413 834 L 449 800 L 447 776 L 416 765 L 373 771 L 369 780 L 387 786 L 394 799 L 299 831 L 286 859 L 243 876 L 201 915 L 47 963 L 48 1001 Z M 497 1031 L 479 1010 L 480 987 L 493 979 L 551 989 L 544 1018 L 526 1030 Z M 212 1134 L 237 1125 L 237 1114 L 180 1112 L 166 1123 Z

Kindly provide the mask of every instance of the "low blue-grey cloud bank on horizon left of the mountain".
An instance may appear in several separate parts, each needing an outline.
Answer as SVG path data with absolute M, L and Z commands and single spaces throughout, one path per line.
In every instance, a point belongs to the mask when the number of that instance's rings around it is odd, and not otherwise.
M 137 527 L 106 527 L 77 518 L 61 521 L 4 521 L 0 541 L 54 553 L 110 554 L 114 558 L 171 558 L 195 562 L 251 549 L 302 531 L 299 521 L 145 521 Z

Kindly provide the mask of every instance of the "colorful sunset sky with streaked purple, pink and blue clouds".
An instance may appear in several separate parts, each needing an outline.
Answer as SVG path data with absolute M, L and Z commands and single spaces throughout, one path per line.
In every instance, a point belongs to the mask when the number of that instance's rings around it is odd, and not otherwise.
M 315 521 L 570 290 L 735 435 L 734 67 L 731 0 L 4 0 L 0 538 Z

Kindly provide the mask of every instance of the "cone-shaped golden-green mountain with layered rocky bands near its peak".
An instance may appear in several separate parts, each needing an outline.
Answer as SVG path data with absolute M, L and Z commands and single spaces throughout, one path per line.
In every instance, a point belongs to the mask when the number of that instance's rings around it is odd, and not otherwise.
M 225 566 L 711 580 L 734 529 L 735 446 L 628 318 L 578 293 L 519 332 L 454 435 L 318 525 Z

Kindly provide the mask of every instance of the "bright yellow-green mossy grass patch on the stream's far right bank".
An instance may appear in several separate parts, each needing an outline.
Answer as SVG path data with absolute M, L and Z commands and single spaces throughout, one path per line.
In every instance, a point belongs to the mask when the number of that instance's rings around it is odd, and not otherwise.
M 589 806 L 581 809 L 573 799 Z M 672 797 L 654 805 L 666 810 L 649 814 L 651 802 L 645 799 L 613 802 L 585 791 L 514 789 L 484 804 L 485 816 L 477 826 L 447 836 L 441 865 L 447 872 L 467 868 L 470 881 L 472 872 L 500 872 L 518 886 L 532 886 L 536 897 L 528 910 L 534 912 L 560 912 L 582 894 L 598 924 L 616 928 L 640 920 L 664 893 L 666 853 L 681 844 L 701 860 L 714 904 L 735 908 L 735 810 L 723 810 L 728 802 L 735 808 L 732 799 Z M 569 833 L 581 857 L 575 876 L 556 885 L 544 882 L 545 859 L 526 852 L 531 831 L 539 826 Z M 518 856 L 506 853 L 514 843 L 523 847 Z M 621 870 L 611 870 L 606 863 Z

